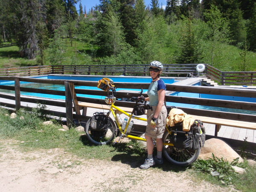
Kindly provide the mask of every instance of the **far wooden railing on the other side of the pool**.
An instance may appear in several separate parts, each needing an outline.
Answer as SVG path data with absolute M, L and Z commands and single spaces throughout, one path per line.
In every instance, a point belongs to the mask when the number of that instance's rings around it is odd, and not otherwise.
M 197 64 L 164 64 L 164 76 L 206 76 L 221 85 L 256 85 L 256 71 L 221 71 L 208 64 L 203 73 Z M 38 76 L 47 74 L 148 76 L 148 65 L 47 65 L 1 68 L 0 76 Z

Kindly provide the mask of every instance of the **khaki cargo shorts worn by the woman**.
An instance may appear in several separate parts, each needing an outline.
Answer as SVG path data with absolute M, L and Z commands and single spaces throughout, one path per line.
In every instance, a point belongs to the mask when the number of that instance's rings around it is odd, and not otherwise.
M 157 125 L 155 126 L 155 128 L 152 128 L 150 122 L 152 117 L 154 116 L 156 109 L 157 109 L 157 106 L 152 106 L 152 110 L 149 109 L 147 111 L 148 125 L 146 127 L 145 136 L 148 136 L 154 139 L 158 139 L 158 138 L 161 139 L 163 137 L 163 132 L 166 126 L 167 110 L 166 110 L 166 107 L 163 105 L 157 119 Z

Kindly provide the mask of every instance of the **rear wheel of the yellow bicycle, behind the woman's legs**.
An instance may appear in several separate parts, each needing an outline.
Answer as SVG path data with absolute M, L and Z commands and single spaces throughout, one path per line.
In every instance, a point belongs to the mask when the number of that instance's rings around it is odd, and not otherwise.
M 169 131 L 163 134 L 163 143 L 172 143 Z M 200 154 L 200 146 L 198 149 L 179 149 L 172 145 L 163 145 L 163 155 L 170 163 L 177 166 L 189 166 L 197 160 Z

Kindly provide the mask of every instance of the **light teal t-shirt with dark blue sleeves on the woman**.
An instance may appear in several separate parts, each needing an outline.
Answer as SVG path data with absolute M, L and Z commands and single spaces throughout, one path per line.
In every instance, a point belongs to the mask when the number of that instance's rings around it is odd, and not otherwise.
M 157 106 L 158 104 L 158 93 L 157 91 L 164 89 L 166 90 L 166 85 L 162 79 L 158 81 L 151 81 L 148 87 L 148 97 L 149 97 L 149 105 Z

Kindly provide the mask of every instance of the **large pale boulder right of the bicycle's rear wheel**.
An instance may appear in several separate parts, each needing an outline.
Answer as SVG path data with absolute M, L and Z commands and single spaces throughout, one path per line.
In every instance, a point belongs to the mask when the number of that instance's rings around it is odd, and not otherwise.
M 215 157 L 232 162 L 234 159 L 239 157 L 239 163 L 243 162 L 243 159 L 239 156 L 233 148 L 230 147 L 223 140 L 212 138 L 205 141 L 204 147 L 201 148 L 199 158 L 207 160 L 212 158 L 212 153 Z

